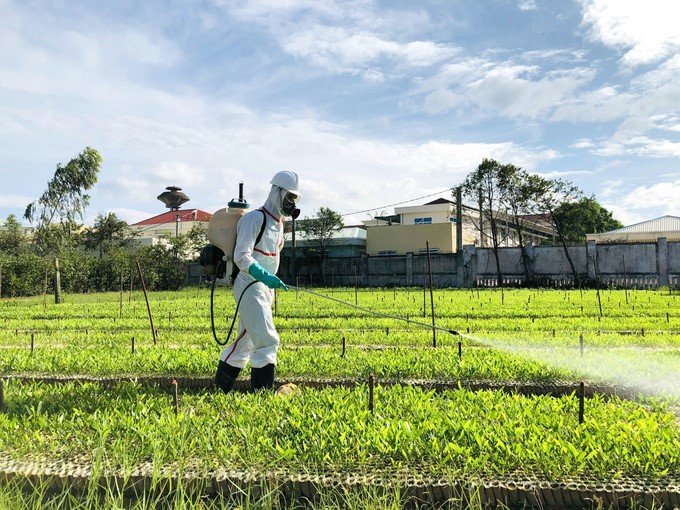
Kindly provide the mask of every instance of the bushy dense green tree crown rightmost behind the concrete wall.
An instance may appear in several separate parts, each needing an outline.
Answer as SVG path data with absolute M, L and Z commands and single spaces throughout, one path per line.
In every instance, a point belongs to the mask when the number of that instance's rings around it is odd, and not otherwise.
M 602 207 L 594 197 L 584 197 L 576 202 L 565 202 L 555 209 L 564 239 L 569 244 L 581 244 L 586 234 L 607 232 L 622 228 L 623 223 Z

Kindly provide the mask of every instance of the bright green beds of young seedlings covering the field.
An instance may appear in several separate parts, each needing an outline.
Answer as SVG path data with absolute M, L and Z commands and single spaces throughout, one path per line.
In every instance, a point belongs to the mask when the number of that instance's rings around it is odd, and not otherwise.
M 150 251 L 149 256 L 171 255 L 172 249 L 166 250 Z M 143 271 L 146 277 L 144 266 Z M 422 308 L 420 291 L 315 292 L 346 303 L 356 298 L 361 307 L 396 318 L 376 317 L 309 293 L 278 292 L 277 378 L 346 383 L 302 388 L 286 398 L 271 392 L 225 396 L 182 386 L 183 375 L 211 380 L 214 374 L 220 348 L 210 333 L 209 289 L 149 294 L 157 345 L 141 292 L 74 294 L 60 305 L 41 298 L 1 300 L 0 373 L 5 374 L 6 408 L 0 413 L 0 461 L 12 459 L 14 467 L 31 461 L 55 472 L 78 465 L 89 473 L 92 467 L 95 481 L 111 474 L 132 480 L 140 473 L 157 481 L 164 473 L 177 476 L 179 484 L 183 473 L 219 477 L 235 471 L 250 479 L 304 474 L 397 484 L 405 476 L 418 483 L 432 478 L 610 484 L 632 479 L 663 487 L 677 480 L 680 300 L 673 296 L 606 291 L 602 318 L 594 291 L 512 289 L 501 299 L 494 290 L 439 289 L 434 293 L 437 324 L 461 332 L 470 328 L 472 333 L 440 331 L 438 347 L 432 348 L 431 332 L 416 324 L 427 322 L 423 312 L 429 310 Z M 219 289 L 216 306 L 223 319 L 233 313 L 229 289 Z M 602 331 L 606 328 L 638 333 Z M 647 332 L 641 333 L 642 328 Z M 28 348 L 32 332 L 33 352 Z M 586 338 L 583 356 L 581 334 Z M 134 353 L 131 337 L 137 339 Z M 341 339 L 347 343 L 344 356 Z M 462 358 L 456 352 L 459 339 Z M 606 370 L 598 372 L 601 367 Z M 527 396 L 500 390 L 517 382 L 539 389 L 560 382 L 576 388 L 577 381 L 595 389 L 612 380 L 630 382 L 635 373 L 649 382 L 661 369 L 668 372 L 675 400 L 644 392 L 632 400 L 595 395 L 585 399 L 584 423 L 579 423 L 574 393 Z M 125 374 L 139 379 L 115 385 L 43 384 L 20 382 L 10 374 Z M 378 381 L 373 412 L 365 384 L 370 374 Z M 180 381 L 177 413 L 167 388 L 142 382 L 144 375 Z M 248 377 L 248 369 L 241 377 Z M 430 390 L 413 379 L 447 382 L 453 389 Z M 498 389 L 469 391 L 455 385 L 459 380 L 487 382 Z M 617 394 L 625 394 L 626 387 L 617 386 Z M 345 486 L 339 487 L 329 490 L 338 494 Z M 175 493 L 182 486 L 173 489 Z M 2 490 L 0 502 L 4 498 L 16 508 L 18 500 Z M 64 494 L 75 502 L 74 495 Z M 152 490 L 139 497 L 159 494 Z M 196 508 L 209 508 L 207 501 Z M 362 503 L 340 507 L 366 508 Z M 176 503 L 177 508 L 187 504 Z

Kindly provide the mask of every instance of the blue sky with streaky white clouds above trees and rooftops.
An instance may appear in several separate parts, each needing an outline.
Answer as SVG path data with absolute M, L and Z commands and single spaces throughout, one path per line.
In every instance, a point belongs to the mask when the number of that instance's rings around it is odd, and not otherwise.
M 263 203 L 345 224 L 453 198 L 484 158 L 630 225 L 680 216 L 676 0 L 0 0 L 0 221 L 103 157 L 84 223 Z

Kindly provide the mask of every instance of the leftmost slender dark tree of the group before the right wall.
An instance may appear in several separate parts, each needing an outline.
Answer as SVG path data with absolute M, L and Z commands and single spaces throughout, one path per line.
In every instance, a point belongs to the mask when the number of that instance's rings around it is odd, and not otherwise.
M 507 224 L 507 215 L 501 212 L 505 209 L 503 175 L 510 171 L 508 165 L 484 158 L 461 186 L 465 197 L 479 203 L 479 222 L 475 227 L 479 231 L 480 244 L 484 246 L 487 241 L 491 243 L 499 287 L 503 286 L 503 271 L 498 249 L 507 236 L 502 228 L 503 224 Z

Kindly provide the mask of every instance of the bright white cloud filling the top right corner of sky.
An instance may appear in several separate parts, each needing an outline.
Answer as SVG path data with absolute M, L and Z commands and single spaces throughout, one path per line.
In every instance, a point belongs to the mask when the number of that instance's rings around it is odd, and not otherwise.
M 680 49 L 680 3 L 668 0 L 580 0 L 591 39 L 624 53 L 636 66 Z

